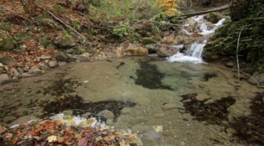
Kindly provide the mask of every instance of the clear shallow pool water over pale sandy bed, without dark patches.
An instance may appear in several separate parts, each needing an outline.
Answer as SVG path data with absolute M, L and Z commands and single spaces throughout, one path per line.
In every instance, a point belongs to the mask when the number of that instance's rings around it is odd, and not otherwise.
M 130 76 L 140 77 L 136 73 L 137 70 L 144 70 L 140 67 L 142 60 L 149 60 L 148 64 L 156 66 L 159 73 L 164 75 L 161 84 L 170 86 L 173 90 L 148 89 L 136 85 Z M 125 64 L 119 66 L 121 62 Z M 202 79 L 204 73 L 214 73 L 217 76 L 204 81 Z M 145 75 L 148 75 L 147 71 Z M 242 87 L 236 89 L 237 79 L 233 77 L 234 75 L 236 73 L 217 64 L 169 62 L 157 56 L 134 56 L 119 58 L 113 62 L 68 64 L 41 76 L 23 78 L 19 82 L 0 86 L 0 120 L 1 124 L 6 124 L 3 120 L 8 116 L 14 117 L 14 120 L 24 115 L 41 117 L 43 104 L 56 98 L 52 93 L 44 95 L 44 88 L 56 80 L 71 78 L 76 84 L 70 87 L 74 92 L 68 94 L 77 94 L 86 102 L 108 100 L 135 102 L 136 106 L 128 113 L 120 114 L 111 126 L 117 130 L 132 129 L 132 132 L 141 138 L 144 146 L 213 146 L 219 144 L 212 137 L 220 134 L 221 127 L 193 121 L 193 117 L 182 110 L 184 107 L 179 96 L 198 93 L 200 96 L 220 99 L 231 95 L 238 101 L 234 107 L 248 109 L 246 101 L 254 96 L 254 92 L 260 90 L 245 80 L 240 83 Z M 148 79 L 151 78 L 149 75 Z M 163 104 L 167 103 L 175 105 L 176 108 L 162 110 Z M 236 108 L 232 112 L 243 115 Z M 155 114 L 163 116 L 157 118 Z M 146 118 L 147 121 L 136 125 L 129 124 L 138 117 Z M 162 132 L 154 131 L 153 127 L 158 125 L 163 127 Z M 237 146 L 228 139 L 222 141 L 230 146 Z

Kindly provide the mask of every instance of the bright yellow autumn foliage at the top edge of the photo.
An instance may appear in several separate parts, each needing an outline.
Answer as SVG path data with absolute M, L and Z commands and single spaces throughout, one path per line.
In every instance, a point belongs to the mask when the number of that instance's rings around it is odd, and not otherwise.
M 165 11 L 166 15 L 174 15 L 177 12 L 175 8 L 179 0 L 157 0 L 160 4 L 160 7 Z

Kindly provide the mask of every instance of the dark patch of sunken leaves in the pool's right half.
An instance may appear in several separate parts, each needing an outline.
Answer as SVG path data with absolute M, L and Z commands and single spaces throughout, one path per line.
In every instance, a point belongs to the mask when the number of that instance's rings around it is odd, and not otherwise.
M 185 111 L 195 116 L 193 120 L 202 121 L 205 124 L 218 124 L 224 126 L 228 124 L 229 112 L 227 108 L 233 105 L 236 100 L 232 97 L 222 97 L 220 100 L 215 100 L 215 102 L 207 103 L 209 99 L 204 99 L 202 101 L 198 100 L 196 97 L 197 93 L 182 95 L 180 101 L 184 103 Z M 188 102 L 185 102 L 188 100 Z

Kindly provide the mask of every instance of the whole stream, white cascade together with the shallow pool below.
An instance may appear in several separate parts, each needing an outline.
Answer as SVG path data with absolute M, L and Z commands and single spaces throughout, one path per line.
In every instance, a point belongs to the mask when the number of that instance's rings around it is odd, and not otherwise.
M 212 29 L 199 21 L 200 34 L 213 33 L 223 21 Z M 204 62 L 201 52 L 205 43 L 206 39 L 197 41 L 185 54 L 177 52 L 166 58 L 124 56 L 112 61 L 68 63 L 40 76 L 2 85 L 0 122 L 12 126 L 69 111 L 89 118 L 108 109 L 114 118 L 107 120 L 106 115 L 101 120 L 116 130 L 136 134 L 144 146 L 244 146 L 224 125 L 248 116 L 250 99 L 262 90 L 243 79 L 237 88 L 236 72 Z M 223 119 L 208 122 L 194 120 L 197 115 L 186 112 L 186 103 L 193 99 L 188 96 L 207 104 L 223 97 L 234 100 L 223 108 Z M 157 126 L 162 128 L 157 131 Z

